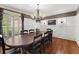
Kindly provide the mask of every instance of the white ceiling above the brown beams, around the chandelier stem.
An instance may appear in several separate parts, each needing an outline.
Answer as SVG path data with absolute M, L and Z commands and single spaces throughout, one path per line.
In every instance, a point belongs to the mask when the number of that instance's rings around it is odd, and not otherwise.
M 36 4 L 0 4 L 0 7 L 23 12 L 25 14 L 34 15 L 36 12 Z M 40 15 L 49 16 L 58 13 L 74 11 L 78 8 L 78 4 L 40 4 Z

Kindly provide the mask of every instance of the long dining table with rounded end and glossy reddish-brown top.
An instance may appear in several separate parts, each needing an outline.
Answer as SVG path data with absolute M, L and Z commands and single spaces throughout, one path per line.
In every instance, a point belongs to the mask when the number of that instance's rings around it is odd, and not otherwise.
M 20 48 L 21 53 L 23 53 L 23 47 L 28 47 L 31 43 L 33 43 L 34 36 L 43 34 L 44 32 L 39 33 L 28 33 L 23 35 L 16 35 L 10 37 L 9 39 L 5 40 L 5 44 L 11 48 Z

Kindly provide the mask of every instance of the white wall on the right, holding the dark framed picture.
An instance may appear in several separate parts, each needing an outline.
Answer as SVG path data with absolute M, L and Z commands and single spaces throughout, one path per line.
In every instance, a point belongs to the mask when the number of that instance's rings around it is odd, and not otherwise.
M 46 23 L 46 25 L 42 25 L 44 29 L 41 29 L 45 30 L 46 28 L 51 28 L 53 30 L 53 36 L 69 40 L 75 40 L 75 17 L 76 16 L 58 18 L 56 19 L 56 25 L 48 25 Z M 63 21 L 65 20 L 64 23 L 60 23 L 61 19 Z M 47 22 L 47 20 L 44 20 L 42 22 Z

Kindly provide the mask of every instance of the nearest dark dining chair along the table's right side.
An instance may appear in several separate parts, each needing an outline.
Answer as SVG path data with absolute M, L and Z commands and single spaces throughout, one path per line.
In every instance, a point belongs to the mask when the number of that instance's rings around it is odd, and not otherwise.
M 41 39 L 42 34 L 37 35 L 33 39 L 33 43 L 29 46 L 29 52 L 32 54 L 40 54 L 41 53 Z

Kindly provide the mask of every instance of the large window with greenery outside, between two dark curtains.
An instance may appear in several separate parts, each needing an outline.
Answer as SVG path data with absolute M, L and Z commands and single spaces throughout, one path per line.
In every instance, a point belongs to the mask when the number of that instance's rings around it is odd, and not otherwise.
M 20 14 L 4 10 L 2 29 L 5 39 L 19 35 L 21 31 Z

